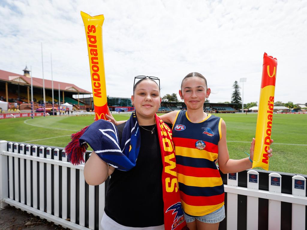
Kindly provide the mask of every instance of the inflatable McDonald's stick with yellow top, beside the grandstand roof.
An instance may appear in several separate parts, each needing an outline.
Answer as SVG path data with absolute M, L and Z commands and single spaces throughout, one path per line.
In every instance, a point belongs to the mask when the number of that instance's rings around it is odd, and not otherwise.
M 98 119 L 107 120 L 105 114 L 108 113 L 108 105 L 102 45 L 104 16 L 91 17 L 81 11 L 81 17 L 85 27 L 88 59 L 90 62 L 95 118 L 96 121 Z

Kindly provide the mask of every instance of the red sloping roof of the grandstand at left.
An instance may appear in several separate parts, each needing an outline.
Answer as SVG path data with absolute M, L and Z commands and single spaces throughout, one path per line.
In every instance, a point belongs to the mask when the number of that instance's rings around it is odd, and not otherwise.
M 36 86 L 39 88 L 43 87 L 43 79 L 40 79 L 40 78 L 32 78 L 32 79 L 33 79 L 33 86 Z M 6 82 L 12 82 L 12 83 L 18 82 L 24 85 L 31 85 L 31 78 L 28 78 L 24 75 L 4 71 L 4 70 L 0 70 L 0 80 L 6 81 Z M 53 81 L 54 89 L 58 89 L 59 84 L 60 84 L 60 90 L 76 92 L 76 94 L 77 93 L 91 94 L 91 92 L 87 90 L 81 89 L 74 84 L 66 83 L 66 82 Z M 45 88 L 52 89 L 51 80 L 45 79 Z

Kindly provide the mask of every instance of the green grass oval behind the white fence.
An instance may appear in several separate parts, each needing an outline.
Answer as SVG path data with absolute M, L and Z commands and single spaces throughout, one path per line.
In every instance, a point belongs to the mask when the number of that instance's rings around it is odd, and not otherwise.
M 232 159 L 246 157 L 255 136 L 257 114 L 217 114 L 227 126 L 227 146 Z M 114 115 L 116 120 L 128 114 Z M 93 116 L 10 118 L 0 120 L 0 140 L 65 147 L 70 135 L 93 122 Z M 307 174 L 307 115 L 274 114 L 273 157 L 269 170 Z

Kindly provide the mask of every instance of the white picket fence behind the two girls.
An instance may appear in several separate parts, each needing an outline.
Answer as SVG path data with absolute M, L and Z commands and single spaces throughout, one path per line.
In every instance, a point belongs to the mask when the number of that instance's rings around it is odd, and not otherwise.
M 12 205 L 70 229 L 101 229 L 105 184 L 89 186 L 84 165 L 67 162 L 65 152 L 54 147 L 0 141 L 0 207 Z M 268 174 L 269 191 L 259 190 L 259 172 L 244 173 L 246 187 L 238 186 L 238 173 L 227 174 L 225 183 L 226 219 L 220 229 L 262 229 L 259 220 L 267 218 L 268 229 L 283 229 L 282 202 L 292 204 L 291 228 L 306 229 L 306 178 L 292 177 L 292 194 L 281 193 L 282 175 Z M 247 197 L 246 213 L 239 211 L 238 197 Z M 268 200 L 268 213 L 258 211 L 259 199 Z M 244 206 L 244 205 L 243 205 Z M 261 207 L 262 208 L 262 207 Z M 240 213 L 241 212 L 241 213 Z M 238 223 L 238 217 L 246 217 Z M 264 219 L 265 219 L 264 218 Z M 241 221 L 240 221 L 241 222 Z

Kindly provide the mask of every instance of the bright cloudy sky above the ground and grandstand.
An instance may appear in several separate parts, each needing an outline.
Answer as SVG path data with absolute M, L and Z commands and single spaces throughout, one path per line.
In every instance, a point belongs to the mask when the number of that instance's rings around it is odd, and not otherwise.
M 278 59 L 275 101 L 307 102 L 307 1 L 0 0 L 0 69 L 72 82 L 91 91 L 80 10 L 104 14 L 107 95 L 130 97 L 136 75 L 161 79 L 161 95 L 200 72 L 210 102 L 231 100 L 246 77 L 244 103 L 259 101 L 263 53 Z M 242 86 L 242 83 L 241 83 Z M 242 90 L 242 89 L 241 89 Z M 242 93 L 242 91 L 241 91 Z

